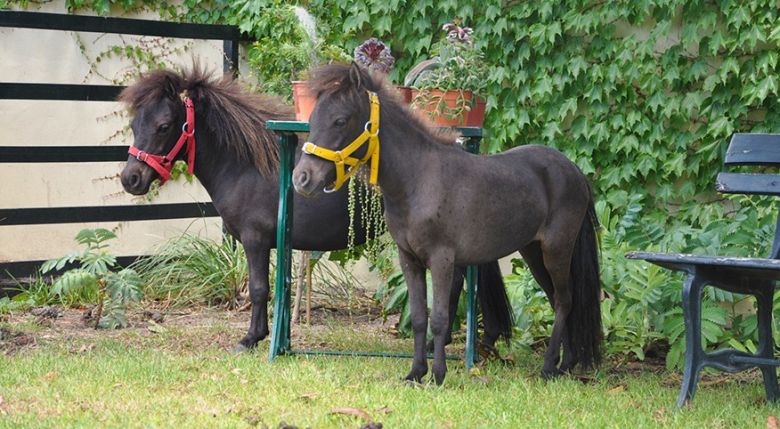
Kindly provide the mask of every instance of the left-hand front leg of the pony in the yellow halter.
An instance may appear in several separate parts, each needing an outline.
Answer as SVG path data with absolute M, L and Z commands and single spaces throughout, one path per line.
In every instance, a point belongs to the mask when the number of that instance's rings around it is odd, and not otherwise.
M 410 253 L 398 249 L 401 271 L 409 291 L 409 313 L 414 331 L 414 361 L 406 380 L 419 383 L 428 372 L 425 336 L 428 332 L 428 305 L 426 304 L 425 267 Z

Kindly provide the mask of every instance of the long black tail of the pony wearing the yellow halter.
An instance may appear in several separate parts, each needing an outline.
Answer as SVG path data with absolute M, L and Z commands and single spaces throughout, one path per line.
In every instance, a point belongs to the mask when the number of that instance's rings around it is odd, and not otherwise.
M 590 199 L 580 226 L 571 261 L 572 307 L 566 319 L 566 331 L 575 362 L 583 367 L 601 362 L 601 279 L 596 240 L 598 218 Z

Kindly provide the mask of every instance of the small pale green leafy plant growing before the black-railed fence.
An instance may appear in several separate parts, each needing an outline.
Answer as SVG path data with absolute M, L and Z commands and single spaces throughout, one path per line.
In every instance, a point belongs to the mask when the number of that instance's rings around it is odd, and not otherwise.
M 41 274 L 45 274 L 78 262 L 79 268 L 66 271 L 54 281 L 51 293 L 66 305 L 94 302 L 96 329 L 126 327 L 127 306 L 142 296 L 138 273 L 131 268 L 117 270 L 116 257 L 108 252 L 106 242 L 114 238 L 116 235 L 104 228 L 83 229 L 76 234 L 76 242 L 86 246 L 82 252 L 51 259 L 41 266 Z

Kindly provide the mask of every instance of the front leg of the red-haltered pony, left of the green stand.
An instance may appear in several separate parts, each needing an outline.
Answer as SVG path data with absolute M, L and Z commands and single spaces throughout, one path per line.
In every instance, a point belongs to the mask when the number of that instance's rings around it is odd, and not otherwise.
M 268 259 L 270 246 L 244 243 L 249 267 L 249 299 L 252 302 L 252 320 L 249 331 L 236 346 L 237 352 L 257 346 L 268 336 Z

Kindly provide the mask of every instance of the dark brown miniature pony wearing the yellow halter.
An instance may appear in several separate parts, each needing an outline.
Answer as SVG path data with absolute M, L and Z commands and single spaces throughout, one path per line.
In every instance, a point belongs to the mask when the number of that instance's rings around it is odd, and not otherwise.
M 311 85 L 318 101 L 310 142 L 303 147 L 307 155 L 293 171 L 298 192 L 312 195 L 329 186 L 334 163 L 319 154 L 346 147 L 364 130 L 376 129 L 373 121 L 379 122 L 378 182 L 409 285 L 415 332 L 408 380 L 419 382 L 428 371 L 426 268 L 433 278 L 433 377 L 441 384 L 447 371 L 444 345 L 453 266 L 481 264 L 514 251 L 523 255 L 555 310 L 542 376 L 578 363 L 599 363 L 597 220 L 590 186 L 577 166 L 544 146 L 492 156 L 469 154 L 432 133 L 380 79 L 354 64 L 319 69 Z M 381 106 L 378 117 L 369 113 L 374 94 Z M 364 146 L 355 157 L 367 159 L 372 154 L 366 150 Z M 563 360 L 556 368 L 561 343 Z

